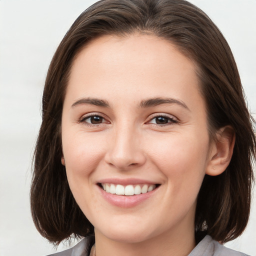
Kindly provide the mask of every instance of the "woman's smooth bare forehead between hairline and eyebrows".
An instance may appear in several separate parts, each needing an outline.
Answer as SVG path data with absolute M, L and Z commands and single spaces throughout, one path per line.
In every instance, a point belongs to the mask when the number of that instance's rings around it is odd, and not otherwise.
M 171 42 L 133 34 L 101 36 L 86 44 L 73 60 L 66 96 L 185 99 L 198 91 L 196 65 Z

